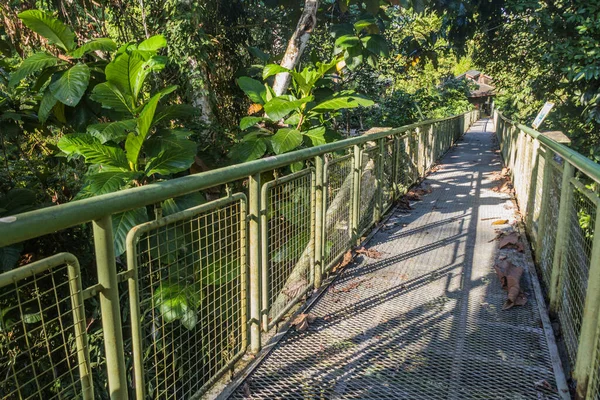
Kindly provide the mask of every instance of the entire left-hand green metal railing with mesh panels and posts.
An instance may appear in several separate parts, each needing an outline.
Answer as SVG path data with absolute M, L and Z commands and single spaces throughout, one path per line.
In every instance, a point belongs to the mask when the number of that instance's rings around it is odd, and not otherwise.
M 200 397 L 261 349 L 262 331 L 318 288 L 478 117 L 0 219 L 0 247 L 91 224 L 95 248 L 81 268 L 82 256 L 60 253 L 0 275 L 0 397 Z M 217 199 L 162 215 L 161 202 L 199 191 Z M 112 217 L 143 207 L 156 219 L 133 227 L 115 257 Z

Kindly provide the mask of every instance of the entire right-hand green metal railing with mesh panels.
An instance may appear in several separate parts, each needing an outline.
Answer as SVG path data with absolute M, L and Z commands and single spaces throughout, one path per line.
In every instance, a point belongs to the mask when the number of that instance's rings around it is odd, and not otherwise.
M 600 165 L 494 112 L 577 398 L 600 399 Z

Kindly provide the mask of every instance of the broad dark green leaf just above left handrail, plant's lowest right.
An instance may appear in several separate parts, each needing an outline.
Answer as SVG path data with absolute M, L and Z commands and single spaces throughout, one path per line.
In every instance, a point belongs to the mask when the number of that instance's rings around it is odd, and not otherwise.
M 191 140 L 179 140 L 177 146 L 174 142 L 162 142 L 160 147 L 159 153 L 146 164 L 147 175 L 174 174 L 188 169 L 194 162 L 197 145 Z

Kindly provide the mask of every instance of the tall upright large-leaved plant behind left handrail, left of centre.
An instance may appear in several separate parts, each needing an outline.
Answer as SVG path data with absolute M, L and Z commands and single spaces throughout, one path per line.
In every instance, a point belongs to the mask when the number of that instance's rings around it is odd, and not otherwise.
M 106 82 L 96 85 L 91 95 L 120 118 L 90 125 L 86 133 L 68 134 L 58 142 L 67 155 L 81 156 L 90 165 L 79 198 L 157 181 L 188 169 L 194 162 L 196 144 L 187 139 L 191 132 L 167 124 L 189 113 L 190 107 L 159 107 L 160 100 L 177 86 L 153 95 L 144 90 L 148 76 L 165 67 L 165 57 L 158 55 L 165 46 L 160 35 L 139 45 L 122 46 L 106 66 Z M 125 251 L 127 232 L 147 219 L 145 208 L 113 217 L 117 255 Z

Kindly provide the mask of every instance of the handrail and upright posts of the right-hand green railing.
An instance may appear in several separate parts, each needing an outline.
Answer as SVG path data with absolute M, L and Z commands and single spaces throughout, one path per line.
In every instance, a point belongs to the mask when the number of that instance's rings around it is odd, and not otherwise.
M 536 260 L 540 262 L 539 254 L 543 248 L 543 237 L 546 232 L 547 212 L 549 202 L 557 201 L 557 199 L 549 198 L 549 185 L 553 170 L 558 169 L 562 174 L 560 205 L 558 214 L 558 225 L 556 229 L 556 238 L 554 245 L 554 258 L 551 271 L 551 282 L 548 288 L 550 310 L 556 312 L 562 305 L 563 291 L 566 290 L 563 281 L 566 278 L 565 274 L 565 252 L 570 246 L 570 223 L 572 221 L 572 203 L 573 193 L 576 190 L 579 194 L 584 195 L 595 206 L 596 217 L 593 223 L 594 237 L 589 258 L 588 281 L 585 286 L 585 300 L 583 306 L 583 316 L 578 337 L 578 347 L 576 354 L 576 362 L 573 370 L 573 379 L 576 382 L 576 398 L 588 399 L 597 398 L 600 394 L 600 196 L 598 193 L 588 190 L 581 183 L 581 179 L 589 182 L 594 182 L 600 185 L 600 165 L 589 160 L 582 154 L 560 144 L 556 141 L 544 136 L 540 132 L 515 123 L 504 117 L 498 110 L 494 111 L 494 121 L 496 124 L 496 134 L 501 145 L 501 152 L 505 163 L 509 166 L 521 169 L 521 176 L 515 173 L 517 196 L 524 196 L 524 199 L 519 198 L 521 202 L 526 201 L 525 206 L 525 222 L 531 223 L 531 219 L 527 215 L 530 211 L 529 204 L 530 196 L 535 196 L 531 193 L 531 184 L 529 190 L 523 193 L 523 182 L 526 179 L 533 179 L 533 176 L 526 177 L 523 172 L 528 167 L 527 163 L 531 163 L 531 159 L 527 160 L 521 156 L 525 146 L 523 141 L 529 141 L 533 145 L 534 154 L 539 154 L 540 149 L 544 151 L 544 175 L 542 187 L 542 201 L 540 215 L 541 223 L 538 227 L 536 238 Z M 555 157 L 562 160 L 562 166 L 557 165 Z M 537 157 L 534 157 L 534 162 L 537 164 Z M 535 169 L 532 169 L 535 171 Z M 530 181 L 531 182 L 531 181 Z M 529 230 L 529 227 L 528 227 Z M 585 267 L 585 266 L 584 266 Z M 593 393 L 590 388 L 594 388 L 596 393 Z

